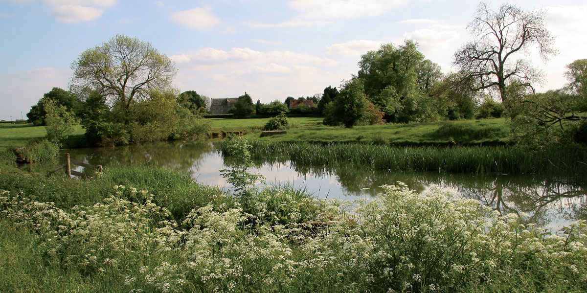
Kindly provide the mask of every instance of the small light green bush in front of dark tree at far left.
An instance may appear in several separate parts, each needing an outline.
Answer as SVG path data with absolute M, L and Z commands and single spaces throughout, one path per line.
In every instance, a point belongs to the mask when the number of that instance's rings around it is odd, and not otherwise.
M 73 126 L 77 124 L 75 116 L 65 106 L 58 106 L 52 100 L 46 100 L 43 106 L 46 112 L 47 139 L 61 145 L 73 133 Z

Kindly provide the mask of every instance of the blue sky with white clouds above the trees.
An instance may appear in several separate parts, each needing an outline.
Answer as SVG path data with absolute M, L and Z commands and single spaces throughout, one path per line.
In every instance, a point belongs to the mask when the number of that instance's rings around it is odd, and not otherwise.
M 450 0 L 0 0 L 0 119 L 26 119 L 70 66 L 116 34 L 150 42 L 178 69 L 174 87 L 212 98 L 247 92 L 254 102 L 312 96 L 356 75 L 360 56 L 383 43 L 419 43 L 444 73 L 472 36 L 479 2 Z M 503 2 L 485 2 L 497 9 Z M 587 58 L 587 2 L 511 1 L 545 13 L 558 55 L 521 52 L 558 89 L 565 66 Z

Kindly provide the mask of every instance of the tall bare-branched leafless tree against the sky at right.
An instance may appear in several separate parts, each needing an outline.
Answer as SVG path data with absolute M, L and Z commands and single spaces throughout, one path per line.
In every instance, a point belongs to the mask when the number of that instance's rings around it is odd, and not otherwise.
M 454 54 L 454 64 L 468 72 L 467 78 L 477 80 L 474 90 L 497 90 L 506 106 L 510 80 L 531 87 L 538 79 L 537 71 L 527 61 L 514 56 L 534 47 L 544 60 L 556 53 L 554 37 L 545 28 L 541 11 L 525 12 L 510 4 L 492 11 L 481 3 L 468 28 L 475 39 Z

